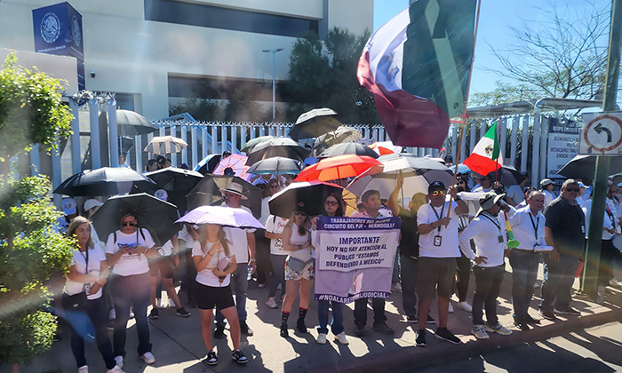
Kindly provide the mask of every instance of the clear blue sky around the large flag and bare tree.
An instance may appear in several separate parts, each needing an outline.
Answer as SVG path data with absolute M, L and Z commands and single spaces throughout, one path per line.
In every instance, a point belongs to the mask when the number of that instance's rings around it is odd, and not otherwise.
M 594 0 L 602 9 L 610 6 L 610 1 Z M 378 29 L 409 4 L 409 0 L 374 0 L 373 28 Z M 568 5 L 581 12 L 586 7 L 584 0 L 482 0 L 479 29 L 475 42 L 474 70 L 471 78 L 469 94 L 492 91 L 496 81 L 511 83 L 512 81 L 490 72 L 485 68 L 501 69 L 497 58 L 492 54 L 491 47 L 503 48 L 513 39 L 512 28 L 522 28 L 531 22 L 546 24 L 546 12 Z M 526 23 L 528 22 L 528 23 Z M 618 97 L 618 102 L 620 97 Z

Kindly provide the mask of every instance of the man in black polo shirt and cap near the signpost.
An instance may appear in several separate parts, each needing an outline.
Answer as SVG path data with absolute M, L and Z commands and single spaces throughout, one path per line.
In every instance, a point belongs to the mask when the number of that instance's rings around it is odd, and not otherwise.
M 555 313 L 580 314 L 570 307 L 578 258 L 586 246 L 586 217 L 576 202 L 578 192 L 577 180 L 566 179 L 562 194 L 544 210 L 545 241 L 553 250 L 544 255 L 539 313 L 548 320 L 555 320 Z

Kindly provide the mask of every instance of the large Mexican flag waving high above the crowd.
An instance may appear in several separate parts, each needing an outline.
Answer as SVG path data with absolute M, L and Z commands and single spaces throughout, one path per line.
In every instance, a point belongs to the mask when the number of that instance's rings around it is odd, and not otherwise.
M 411 0 L 367 41 L 356 75 L 395 145 L 443 147 L 463 114 L 474 14 L 475 0 Z

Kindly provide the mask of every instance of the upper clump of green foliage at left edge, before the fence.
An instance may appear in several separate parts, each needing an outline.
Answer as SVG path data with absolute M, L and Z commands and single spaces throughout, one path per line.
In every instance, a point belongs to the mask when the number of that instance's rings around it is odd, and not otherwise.
M 57 139 L 71 135 L 62 88 L 59 79 L 20 67 L 9 54 L 0 70 L 0 162 L 37 143 L 50 151 Z

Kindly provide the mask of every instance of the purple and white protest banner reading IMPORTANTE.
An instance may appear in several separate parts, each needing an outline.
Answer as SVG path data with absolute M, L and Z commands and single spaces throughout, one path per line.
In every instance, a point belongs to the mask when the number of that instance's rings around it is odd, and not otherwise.
M 400 218 L 320 217 L 315 299 L 389 298 L 400 226 Z

